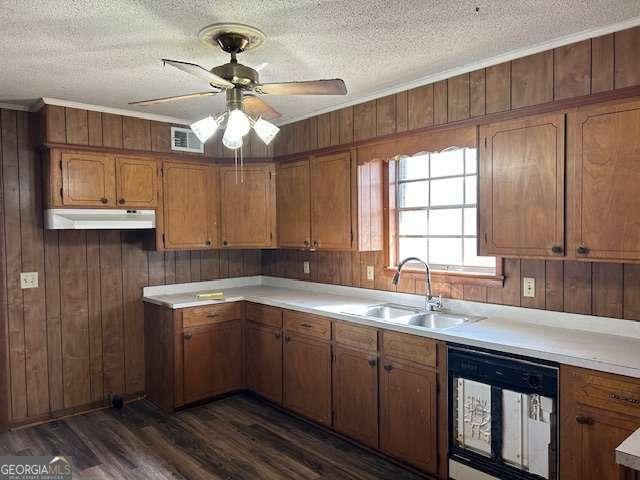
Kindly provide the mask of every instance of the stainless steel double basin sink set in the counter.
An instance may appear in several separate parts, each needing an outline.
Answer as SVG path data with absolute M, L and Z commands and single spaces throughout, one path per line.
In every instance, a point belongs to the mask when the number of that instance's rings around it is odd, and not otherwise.
M 342 313 L 428 330 L 445 330 L 462 325 L 463 323 L 477 322 L 484 318 L 473 315 L 456 315 L 439 311 L 425 311 L 392 303 L 368 305 L 350 309 Z

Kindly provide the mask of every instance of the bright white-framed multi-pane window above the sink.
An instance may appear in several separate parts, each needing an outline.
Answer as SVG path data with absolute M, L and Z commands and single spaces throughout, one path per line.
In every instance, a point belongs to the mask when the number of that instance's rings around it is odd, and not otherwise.
M 395 171 L 395 258 L 415 256 L 433 270 L 495 274 L 496 259 L 477 253 L 477 150 L 399 157 Z

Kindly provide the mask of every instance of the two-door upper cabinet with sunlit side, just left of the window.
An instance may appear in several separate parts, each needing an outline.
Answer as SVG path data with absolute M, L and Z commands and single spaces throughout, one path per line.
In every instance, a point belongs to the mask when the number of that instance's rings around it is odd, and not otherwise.
M 279 165 L 279 246 L 381 250 L 382 170 L 355 151 Z

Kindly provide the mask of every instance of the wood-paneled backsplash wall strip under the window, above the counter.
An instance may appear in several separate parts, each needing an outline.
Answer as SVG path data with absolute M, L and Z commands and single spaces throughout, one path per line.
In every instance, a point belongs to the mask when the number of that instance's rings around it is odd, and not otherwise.
M 310 274 L 303 262 L 310 263 Z M 640 320 L 640 265 L 562 260 L 504 260 L 504 286 L 441 283 L 434 277 L 434 294 L 446 298 L 558 312 Z M 367 280 L 367 266 L 374 280 Z M 424 279 L 401 277 L 397 287 L 385 272 L 382 252 L 262 252 L 262 273 L 312 282 L 372 288 L 403 293 L 424 293 Z M 536 281 L 534 298 L 522 295 L 522 278 Z

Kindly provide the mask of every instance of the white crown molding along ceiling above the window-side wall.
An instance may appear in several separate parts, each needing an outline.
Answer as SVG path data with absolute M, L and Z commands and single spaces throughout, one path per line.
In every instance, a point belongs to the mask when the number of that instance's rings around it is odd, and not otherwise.
M 581 42 L 583 40 L 588 40 L 590 38 L 600 37 L 602 35 L 619 32 L 621 30 L 637 27 L 639 25 L 640 25 L 640 17 L 633 17 L 633 18 L 624 20 L 622 22 L 613 23 L 610 25 L 605 25 L 602 27 L 592 28 L 588 30 L 582 30 L 580 32 L 558 37 L 553 40 L 537 43 L 530 47 L 517 48 L 514 50 L 510 50 L 500 55 L 489 57 L 484 60 L 479 60 L 476 62 L 467 63 L 459 67 L 444 70 L 442 72 L 435 73 L 432 75 L 420 77 L 415 80 L 397 83 L 393 87 L 378 89 L 371 93 L 367 93 L 366 95 L 359 95 L 358 97 L 352 98 L 349 101 L 338 103 L 330 107 L 322 108 L 319 110 L 315 110 L 313 112 L 306 113 L 304 115 L 298 115 L 294 117 L 284 116 L 280 119 L 279 122 L 277 122 L 277 124 L 279 126 L 287 125 L 300 120 L 304 120 L 306 118 L 315 117 L 316 115 L 321 115 L 323 113 L 333 112 L 341 108 L 351 107 L 353 105 L 365 103 L 370 100 L 386 97 L 387 95 L 393 95 L 394 93 L 403 92 L 405 90 L 411 90 L 412 88 L 416 88 L 416 87 L 422 87 L 423 85 L 429 85 L 431 83 L 435 83 L 440 80 L 446 80 L 447 78 L 455 77 L 457 75 L 462 75 L 463 73 L 469 73 L 482 68 L 492 67 L 493 65 L 509 62 L 517 58 L 522 58 L 528 55 L 533 55 L 535 53 L 540 53 L 547 50 L 552 50 L 554 48 L 563 47 L 565 45 Z

